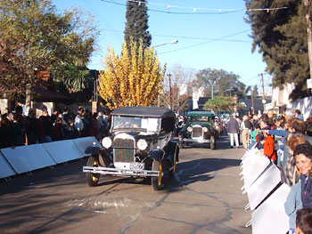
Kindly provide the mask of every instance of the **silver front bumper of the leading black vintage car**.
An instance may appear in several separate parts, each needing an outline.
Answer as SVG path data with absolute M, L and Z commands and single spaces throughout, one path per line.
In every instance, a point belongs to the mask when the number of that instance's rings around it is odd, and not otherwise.
M 106 175 L 114 176 L 135 176 L 135 177 L 158 177 L 160 175 L 159 171 L 150 171 L 150 170 L 131 170 L 131 169 L 119 169 L 119 168 L 110 168 L 110 167 L 93 167 L 93 166 L 84 166 L 83 173 L 100 173 Z

